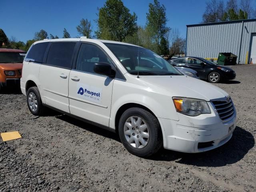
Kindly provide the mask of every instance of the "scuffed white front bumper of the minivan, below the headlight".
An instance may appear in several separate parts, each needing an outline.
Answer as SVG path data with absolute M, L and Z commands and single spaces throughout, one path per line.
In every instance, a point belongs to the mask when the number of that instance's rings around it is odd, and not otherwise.
M 166 149 L 188 153 L 212 150 L 228 142 L 236 128 L 236 111 L 228 122 L 222 122 L 213 111 L 196 117 L 178 116 L 179 121 L 158 118 L 164 127 Z

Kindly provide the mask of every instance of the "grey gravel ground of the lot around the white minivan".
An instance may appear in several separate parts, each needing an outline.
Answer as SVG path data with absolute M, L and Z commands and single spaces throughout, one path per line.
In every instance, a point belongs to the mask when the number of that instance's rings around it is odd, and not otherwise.
M 232 97 L 238 123 L 224 146 L 200 154 L 161 149 L 129 154 L 118 136 L 68 116 L 30 114 L 19 91 L 0 93 L 0 192 L 256 191 L 256 65 L 232 66 L 236 80 L 217 86 Z

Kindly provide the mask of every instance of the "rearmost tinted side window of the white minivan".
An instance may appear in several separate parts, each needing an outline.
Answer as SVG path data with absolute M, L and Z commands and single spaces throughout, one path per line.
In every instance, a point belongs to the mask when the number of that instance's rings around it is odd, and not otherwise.
M 32 46 L 28 52 L 26 58 L 32 59 L 34 62 L 42 63 L 44 58 L 44 52 L 49 42 L 37 43 Z

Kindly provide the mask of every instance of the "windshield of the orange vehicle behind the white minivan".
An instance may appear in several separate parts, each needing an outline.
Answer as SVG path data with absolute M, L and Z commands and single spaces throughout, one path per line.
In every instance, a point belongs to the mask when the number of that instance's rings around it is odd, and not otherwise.
M 22 63 L 25 53 L 0 52 L 0 63 Z

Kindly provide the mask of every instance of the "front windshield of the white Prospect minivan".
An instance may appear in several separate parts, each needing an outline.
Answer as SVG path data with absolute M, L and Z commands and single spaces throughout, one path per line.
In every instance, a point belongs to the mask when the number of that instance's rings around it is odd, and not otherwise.
M 138 46 L 104 43 L 133 75 L 183 75 L 158 54 Z

